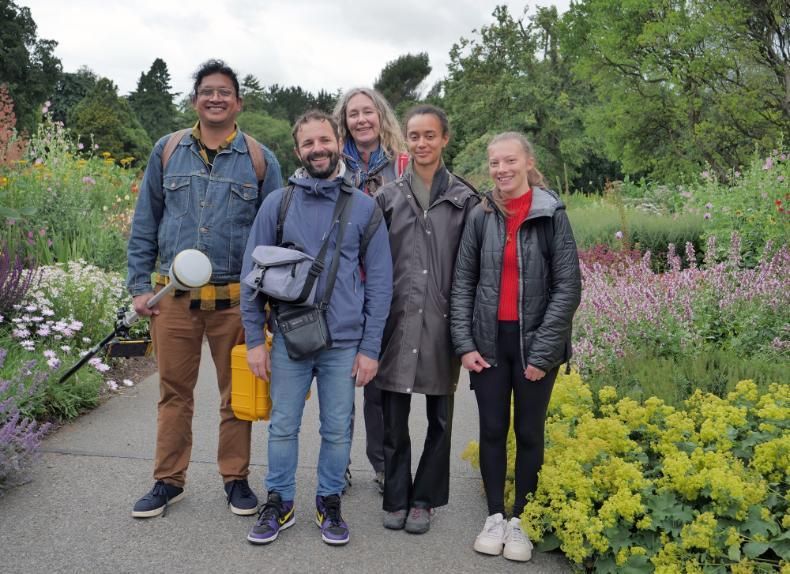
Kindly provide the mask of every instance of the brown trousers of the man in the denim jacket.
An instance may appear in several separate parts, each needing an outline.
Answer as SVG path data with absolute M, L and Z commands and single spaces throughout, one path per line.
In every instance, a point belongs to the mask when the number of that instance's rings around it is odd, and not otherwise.
M 243 341 L 239 307 L 220 311 L 189 308 L 189 294 L 166 296 L 152 317 L 151 338 L 159 367 L 154 479 L 182 486 L 192 455 L 194 389 L 203 335 L 217 369 L 220 393 L 217 463 L 225 482 L 247 478 L 252 423 L 233 415 L 230 406 L 230 353 Z

